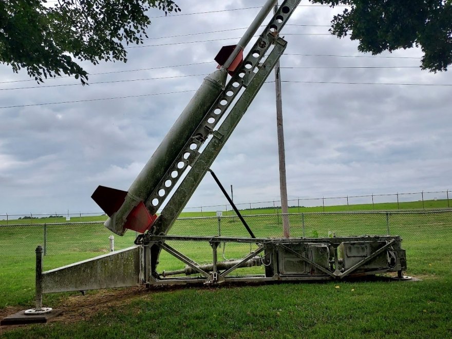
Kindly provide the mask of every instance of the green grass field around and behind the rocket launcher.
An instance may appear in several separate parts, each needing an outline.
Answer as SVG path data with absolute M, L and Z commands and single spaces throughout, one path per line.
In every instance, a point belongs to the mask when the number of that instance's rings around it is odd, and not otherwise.
M 374 207 L 375 211 L 389 210 L 380 208 L 380 204 Z M 335 212 L 340 212 L 340 209 Z M 304 229 L 301 215 L 290 216 L 292 236 L 303 236 L 303 232 L 306 236 L 326 236 L 328 231 L 337 236 L 386 234 L 388 227 L 386 213 L 306 214 L 303 218 Z M 256 236 L 282 235 L 280 216 L 249 216 L 246 219 Z M 390 234 L 401 235 L 404 239 L 407 274 L 421 277 L 423 281 L 274 284 L 140 292 L 115 307 L 109 307 L 107 303 L 86 321 L 32 326 L 3 335 L 450 337 L 452 212 L 392 212 L 388 214 L 388 220 Z M 225 236 L 246 236 L 238 218 L 223 218 L 220 229 Z M 182 219 L 176 222 L 170 233 L 217 235 L 218 221 L 217 218 Z M 109 235 L 102 224 L 48 225 L 44 268 L 47 270 L 106 253 Z M 133 232 L 115 237 L 116 248 L 130 246 L 134 238 Z M 0 310 L 10 306 L 32 307 L 34 248 L 42 244 L 42 240 L 42 225 L 0 228 Z M 172 246 L 195 260 L 211 260 L 211 249 L 207 244 L 173 242 Z M 249 250 L 249 245 L 228 244 L 225 256 L 241 257 Z M 183 267 L 165 254 L 160 262 L 159 270 Z M 89 293 L 84 297 L 86 303 L 97 295 L 96 292 Z M 70 293 L 45 295 L 44 304 L 63 307 L 71 298 L 81 297 Z

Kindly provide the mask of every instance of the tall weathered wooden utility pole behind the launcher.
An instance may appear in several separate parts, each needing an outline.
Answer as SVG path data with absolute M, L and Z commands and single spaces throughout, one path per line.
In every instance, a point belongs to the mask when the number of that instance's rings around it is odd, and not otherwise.
M 278 2 L 274 7 L 274 13 L 278 10 Z M 283 212 L 284 237 L 290 237 L 290 225 L 287 204 L 287 184 L 286 184 L 286 154 L 284 150 L 284 129 L 283 129 L 283 100 L 281 98 L 281 77 L 279 72 L 279 60 L 275 65 L 275 87 L 276 87 L 276 126 L 278 131 L 278 154 L 279 154 L 279 189 L 281 191 L 281 212 Z

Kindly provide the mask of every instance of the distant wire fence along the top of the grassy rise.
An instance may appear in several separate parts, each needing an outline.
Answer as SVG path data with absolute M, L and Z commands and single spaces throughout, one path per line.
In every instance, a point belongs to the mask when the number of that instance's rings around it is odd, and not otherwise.
M 268 200 L 259 202 L 237 202 L 237 208 L 242 214 L 280 214 L 281 201 Z M 414 193 L 392 193 L 392 194 L 368 194 L 341 197 L 319 197 L 319 198 L 292 198 L 288 200 L 289 213 L 303 212 L 335 212 L 335 211 L 373 211 L 373 210 L 432 210 L 452 208 L 452 192 L 446 191 L 422 191 Z M 308 211 L 306 211 L 308 209 Z M 201 217 L 214 216 L 216 211 L 224 214 L 233 214 L 229 203 L 208 206 L 185 207 L 184 213 L 197 213 Z M 160 212 L 160 211 L 159 211 Z M 64 213 L 50 214 L 8 214 L 0 213 L 0 225 L 2 224 L 28 224 L 28 223 L 62 223 L 90 221 L 105 221 L 107 216 L 104 212 L 83 213 L 65 211 Z M 44 220 L 43 220 L 44 219 Z

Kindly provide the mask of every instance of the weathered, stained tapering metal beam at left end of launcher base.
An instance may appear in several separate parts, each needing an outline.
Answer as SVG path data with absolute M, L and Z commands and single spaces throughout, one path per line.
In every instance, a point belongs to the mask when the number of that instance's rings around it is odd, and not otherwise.
M 43 272 L 42 293 L 140 286 L 143 269 L 143 248 L 131 247 Z

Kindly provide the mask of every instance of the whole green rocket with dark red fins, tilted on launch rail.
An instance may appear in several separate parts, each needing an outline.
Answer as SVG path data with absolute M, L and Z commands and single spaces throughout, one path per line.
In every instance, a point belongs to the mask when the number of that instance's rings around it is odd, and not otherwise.
M 266 18 L 276 0 L 267 0 L 239 43 L 224 46 L 215 57 L 218 69 L 204 78 L 193 98 L 186 105 L 154 154 L 127 191 L 98 186 L 91 198 L 108 215 L 105 227 L 118 235 L 127 229 L 144 233 L 152 227 L 157 215 L 150 212 L 145 202 L 160 180 L 189 142 L 199 124 L 219 99 L 227 82 L 228 73 L 241 64 L 243 49 Z

